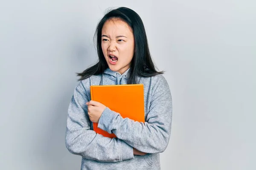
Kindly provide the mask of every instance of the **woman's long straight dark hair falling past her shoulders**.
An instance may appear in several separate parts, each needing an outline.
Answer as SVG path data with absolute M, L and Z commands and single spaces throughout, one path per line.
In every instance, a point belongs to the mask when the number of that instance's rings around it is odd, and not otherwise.
M 137 76 L 151 77 L 157 74 L 163 74 L 163 71 L 156 71 L 156 67 L 151 59 L 146 31 L 140 16 L 130 8 L 120 7 L 108 11 L 108 13 L 105 14 L 105 16 L 99 21 L 94 34 L 94 40 L 96 40 L 97 44 L 99 62 L 90 68 L 87 68 L 82 73 L 77 73 L 77 76 L 80 76 L 79 80 L 86 79 L 92 75 L 102 74 L 105 69 L 108 68 L 108 63 L 105 60 L 101 46 L 102 27 L 107 20 L 113 18 L 120 19 L 127 23 L 132 29 L 134 35 L 135 49 L 133 59 L 131 60 L 128 84 L 136 84 Z

